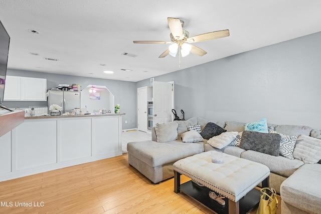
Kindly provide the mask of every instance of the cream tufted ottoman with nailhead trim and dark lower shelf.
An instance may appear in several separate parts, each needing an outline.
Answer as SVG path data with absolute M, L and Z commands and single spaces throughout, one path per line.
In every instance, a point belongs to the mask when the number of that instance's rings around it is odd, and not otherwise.
M 260 192 L 254 187 L 260 182 L 262 186 L 268 186 L 270 170 L 263 164 L 224 153 L 223 161 L 223 163 L 212 163 L 211 151 L 176 161 L 173 165 L 174 191 L 176 193 L 182 191 L 194 197 L 217 213 L 246 213 L 260 199 Z M 181 184 L 181 174 L 204 187 L 191 181 Z M 212 190 L 228 198 L 225 198 L 228 203 L 220 205 L 212 200 L 208 196 Z

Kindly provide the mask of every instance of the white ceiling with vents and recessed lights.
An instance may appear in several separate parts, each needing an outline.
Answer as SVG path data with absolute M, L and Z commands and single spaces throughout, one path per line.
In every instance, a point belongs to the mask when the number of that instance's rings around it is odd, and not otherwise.
M 317 0 L 0 0 L 0 20 L 11 37 L 10 69 L 137 82 L 320 32 L 320 9 Z M 190 54 L 179 68 L 178 57 L 158 58 L 169 45 L 132 42 L 170 41 L 168 17 L 183 20 L 190 37 L 230 36 L 194 43 L 208 54 Z

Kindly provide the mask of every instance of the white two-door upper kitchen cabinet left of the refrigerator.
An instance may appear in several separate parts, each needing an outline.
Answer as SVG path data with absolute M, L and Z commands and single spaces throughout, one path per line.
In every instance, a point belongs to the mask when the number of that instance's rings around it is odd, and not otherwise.
M 47 101 L 47 79 L 6 77 L 5 101 Z

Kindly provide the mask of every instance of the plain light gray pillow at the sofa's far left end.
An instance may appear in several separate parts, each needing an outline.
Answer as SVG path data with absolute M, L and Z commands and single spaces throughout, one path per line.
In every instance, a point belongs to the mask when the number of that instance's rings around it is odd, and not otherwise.
M 157 142 L 164 143 L 177 139 L 177 127 L 176 122 L 168 122 L 162 124 L 156 124 L 155 132 L 157 136 Z

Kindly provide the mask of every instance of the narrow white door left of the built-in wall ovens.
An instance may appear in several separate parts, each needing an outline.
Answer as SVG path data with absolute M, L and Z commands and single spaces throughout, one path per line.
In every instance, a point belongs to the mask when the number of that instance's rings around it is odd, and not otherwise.
M 147 132 L 147 87 L 137 88 L 138 130 Z

